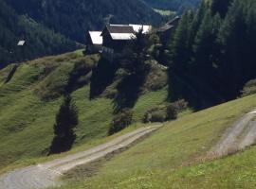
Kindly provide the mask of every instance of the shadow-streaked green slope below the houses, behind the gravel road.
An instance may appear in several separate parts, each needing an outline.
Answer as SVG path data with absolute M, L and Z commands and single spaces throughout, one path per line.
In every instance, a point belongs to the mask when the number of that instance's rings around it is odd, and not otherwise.
M 65 88 L 69 85 L 72 85 L 71 95 L 78 107 L 80 121 L 72 151 L 107 140 L 105 137 L 114 112 L 113 100 L 101 96 L 90 100 L 90 71 L 98 60 L 98 55 L 83 56 L 82 51 L 76 51 L 27 61 L 19 65 L 7 83 L 13 64 L 0 70 L 2 171 L 7 166 L 37 162 L 38 158 L 44 161 L 53 139 L 55 115 L 62 103 Z M 76 82 L 70 82 L 70 76 L 80 68 L 82 76 Z M 164 103 L 166 98 L 166 87 L 140 95 L 134 108 L 135 121 L 141 122 L 144 112 Z M 131 129 L 136 127 L 139 126 L 135 125 Z

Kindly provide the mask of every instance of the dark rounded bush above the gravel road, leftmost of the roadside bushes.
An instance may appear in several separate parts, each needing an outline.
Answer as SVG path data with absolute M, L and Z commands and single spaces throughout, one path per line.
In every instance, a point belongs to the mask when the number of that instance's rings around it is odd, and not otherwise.
M 133 112 L 129 109 L 123 110 L 117 114 L 112 121 L 112 125 L 108 131 L 109 135 L 115 134 L 122 129 L 127 128 L 133 122 Z

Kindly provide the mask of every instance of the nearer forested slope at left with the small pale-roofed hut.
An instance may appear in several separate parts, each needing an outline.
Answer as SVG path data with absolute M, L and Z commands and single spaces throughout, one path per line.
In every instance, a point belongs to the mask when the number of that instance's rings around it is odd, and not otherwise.
M 0 28 L 0 68 L 5 63 L 60 54 L 76 48 L 76 44 L 63 35 L 27 16 L 18 15 L 4 0 L 0 0 Z M 17 46 L 20 40 L 26 40 L 26 45 Z

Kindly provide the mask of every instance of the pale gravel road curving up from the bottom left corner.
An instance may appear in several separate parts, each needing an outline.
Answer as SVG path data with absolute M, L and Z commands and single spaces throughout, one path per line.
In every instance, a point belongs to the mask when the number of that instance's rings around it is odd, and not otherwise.
M 93 162 L 120 148 L 129 146 L 142 136 L 159 129 L 159 127 L 137 129 L 104 145 L 96 146 L 49 163 L 14 170 L 0 177 L 0 189 L 42 189 L 49 186 L 57 186 L 57 179 L 65 171 L 80 164 Z

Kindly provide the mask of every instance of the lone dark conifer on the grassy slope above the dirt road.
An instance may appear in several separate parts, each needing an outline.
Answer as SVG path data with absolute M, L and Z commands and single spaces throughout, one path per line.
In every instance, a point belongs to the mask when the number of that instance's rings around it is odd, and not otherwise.
M 78 111 L 69 94 L 64 97 L 64 102 L 60 111 L 56 115 L 56 124 L 54 125 L 55 137 L 50 147 L 50 154 L 61 153 L 69 150 L 75 139 L 74 129 L 78 125 Z

